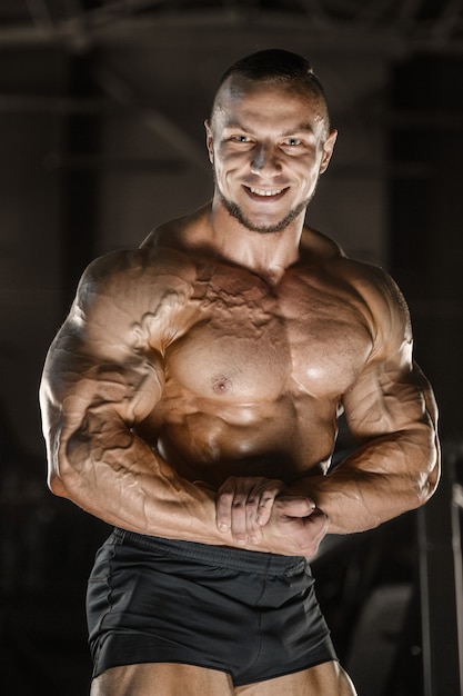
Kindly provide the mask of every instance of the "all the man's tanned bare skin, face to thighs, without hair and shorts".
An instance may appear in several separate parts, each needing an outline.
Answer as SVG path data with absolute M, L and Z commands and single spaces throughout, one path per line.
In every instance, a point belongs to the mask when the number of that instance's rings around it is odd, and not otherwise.
M 336 138 L 320 99 L 233 76 L 205 127 L 212 201 L 95 260 L 50 348 L 49 485 L 137 533 L 311 557 L 429 499 L 436 407 L 395 284 L 304 227 Z M 342 412 L 359 447 L 329 470 Z M 168 664 L 92 685 L 178 693 L 354 689 L 336 663 L 240 688 Z

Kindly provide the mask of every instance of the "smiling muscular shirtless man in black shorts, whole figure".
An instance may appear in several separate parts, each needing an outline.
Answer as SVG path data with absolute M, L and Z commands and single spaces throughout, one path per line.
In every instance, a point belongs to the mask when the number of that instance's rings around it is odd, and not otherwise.
M 306 559 L 432 495 L 434 399 L 394 282 L 304 227 L 336 138 L 305 59 L 239 61 L 205 129 L 212 201 L 94 261 L 44 369 L 50 487 L 115 525 L 91 693 L 351 696 Z

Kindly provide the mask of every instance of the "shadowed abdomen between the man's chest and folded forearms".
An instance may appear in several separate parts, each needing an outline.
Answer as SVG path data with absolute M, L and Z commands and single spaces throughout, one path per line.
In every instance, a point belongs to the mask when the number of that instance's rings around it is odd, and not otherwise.
M 183 478 L 218 487 L 230 476 L 291 483 L 325 473 L 336 437 L 335 408 L 281 397 L 272 404 L 162 399 L 140 435 Z M 183 407 L 183 408 L 182 408 Z

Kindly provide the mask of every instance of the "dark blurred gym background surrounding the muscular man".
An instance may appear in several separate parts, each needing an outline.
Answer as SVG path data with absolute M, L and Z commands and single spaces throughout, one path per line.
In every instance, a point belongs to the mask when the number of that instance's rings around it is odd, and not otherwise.
M 444 445 L 425 514 L 329 540 L 314 561 L 320 600 L 361 696 L 460 693 L 429 665 L 441 650 L 446 674 L 459 672 L 461 3 L 1 0 L 4 694 L 88 693 L 84 586 L 108 529 L 46 487 L 37 390 L 48 346 L 92 258 L 138 246 L 211 196 L 203 120 L 217 82 L 270 47 L 310 57 L 325 86 L 339 141 L 308 220 L 399 281 Z M 434 635 L 446 628 L 437 647 L 426 639 L 434 613 Z

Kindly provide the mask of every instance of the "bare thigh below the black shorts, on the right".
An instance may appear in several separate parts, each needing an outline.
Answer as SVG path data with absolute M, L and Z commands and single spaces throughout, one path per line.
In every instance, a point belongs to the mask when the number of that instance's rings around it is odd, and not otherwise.
M 235 688 L 235 696 L 356 696 L 353 684 L 336 662 Z

